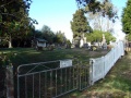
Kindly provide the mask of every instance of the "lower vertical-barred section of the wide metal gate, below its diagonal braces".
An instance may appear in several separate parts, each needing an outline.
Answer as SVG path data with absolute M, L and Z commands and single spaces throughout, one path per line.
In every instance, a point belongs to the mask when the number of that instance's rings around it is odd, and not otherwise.
M 61 68 L 19 75 L 17 98 L 52 98 L 78 89 L 76 68 Z

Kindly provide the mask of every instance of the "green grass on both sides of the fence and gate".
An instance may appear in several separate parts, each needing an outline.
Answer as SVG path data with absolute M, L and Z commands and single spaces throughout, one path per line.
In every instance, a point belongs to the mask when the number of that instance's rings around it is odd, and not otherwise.
M 102 57 L 108 51 L 88 51 L 87 49 L 55 49 L 52 51 L 36 51 L 32 48 L 0 49 L 0 52 L 13 52 L 12 58 L 15 68 L 20 64 L 53 61 L 69 58 L 78 58 L 82 62 L 88 62 L 90 58 Z M 82 93 L 73 93 L 64 98 L 131 98 L 131 52 L 122 57 L 110 70 L 104 79 Z

